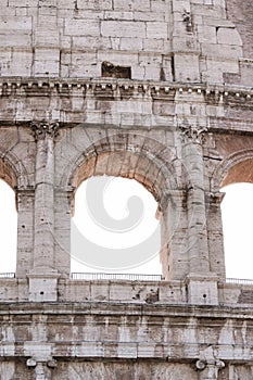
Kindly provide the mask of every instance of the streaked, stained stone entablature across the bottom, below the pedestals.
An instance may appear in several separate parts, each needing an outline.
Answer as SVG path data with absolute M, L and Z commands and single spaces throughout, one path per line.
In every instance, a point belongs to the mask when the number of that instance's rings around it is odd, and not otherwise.
M 24 306 L 1 305 L 4 379 L 236 380 L 252 372 L 252 318 L 244 309 Z

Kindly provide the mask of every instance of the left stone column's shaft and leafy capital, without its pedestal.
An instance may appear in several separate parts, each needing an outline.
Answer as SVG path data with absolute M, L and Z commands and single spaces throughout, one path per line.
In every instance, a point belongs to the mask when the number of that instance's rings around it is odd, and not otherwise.
M 35 177 L 35 273 L 54 271 L 54 137 L 58 123 L 31 123 L 37 142 Z

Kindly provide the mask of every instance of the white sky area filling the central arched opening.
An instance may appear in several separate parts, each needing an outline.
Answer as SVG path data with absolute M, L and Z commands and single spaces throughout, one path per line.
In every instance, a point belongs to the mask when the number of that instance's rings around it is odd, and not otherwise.
M 75 194 L 72 273 L 161 275 L 157 203 L 136 180 L 98 176 Z

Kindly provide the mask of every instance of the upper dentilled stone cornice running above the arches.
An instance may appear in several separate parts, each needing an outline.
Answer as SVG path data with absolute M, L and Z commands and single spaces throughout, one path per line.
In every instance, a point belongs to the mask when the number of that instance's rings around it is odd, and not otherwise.
M 0 96 L 22 94 L 22 90 L 27 94 L 45 94 L 53 90 L 58 94 L 76 94 L 76 91 L 100 92 L 113 91 L 115 96 L 119 90 L 132 91 L 132 94 L 140 93 L 148 97 L 168 97 L 172 94 L 203 94 L 216 97 L 218 100 L 239 101 L 253 99 L 253 88 L 248 86 L 201 84 L 201 83 L 168 83 L 153 80 L 131 80 L 115 78 L 20 78 L 20 77 L 0 77 Z M 119 93 L 118 93 L 119 94 Z

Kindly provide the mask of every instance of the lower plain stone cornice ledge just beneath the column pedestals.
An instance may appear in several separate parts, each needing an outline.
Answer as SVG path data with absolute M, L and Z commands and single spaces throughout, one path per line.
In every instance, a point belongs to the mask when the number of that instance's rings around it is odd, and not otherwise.
M 253 308 L 229 306 L 201 306 L 182 304 L 132 304 L 117 302 L 10 302 L 0 303 L 0 318 L 4 315 L 101 315 L 101 316 L 151 316 L 253 320 Z

